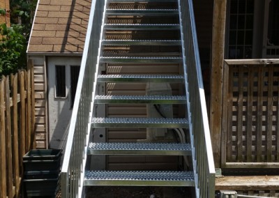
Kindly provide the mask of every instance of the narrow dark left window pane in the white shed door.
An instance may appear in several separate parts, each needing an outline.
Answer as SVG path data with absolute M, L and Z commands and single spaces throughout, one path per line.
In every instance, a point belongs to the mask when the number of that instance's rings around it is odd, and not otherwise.
M 55 66 L 55 98 L 66 98 L 66 66 Z

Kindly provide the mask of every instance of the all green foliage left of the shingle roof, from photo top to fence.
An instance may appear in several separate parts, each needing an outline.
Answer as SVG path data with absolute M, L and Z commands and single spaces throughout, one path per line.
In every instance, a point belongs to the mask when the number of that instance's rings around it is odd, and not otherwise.
M 0 77 L 27 67 L 27 42 L 38 0 L 10 0 L 12 27 L 0 24 Z M 6 12 L 0 9 L 0 15 Z

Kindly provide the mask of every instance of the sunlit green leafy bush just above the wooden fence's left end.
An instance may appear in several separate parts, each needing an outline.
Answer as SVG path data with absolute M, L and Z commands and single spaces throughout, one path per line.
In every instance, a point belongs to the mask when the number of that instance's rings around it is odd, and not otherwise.
M 0 24 L 0 75 L 10 75 L 27 65 L 27 42 L 21 34 L 22 26 Z

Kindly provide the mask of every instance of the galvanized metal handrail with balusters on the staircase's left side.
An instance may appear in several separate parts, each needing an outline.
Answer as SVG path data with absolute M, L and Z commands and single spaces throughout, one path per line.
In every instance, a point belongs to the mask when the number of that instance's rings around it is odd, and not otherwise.
M 61 169 L 61 196 L 81 197 L 106 0 L 92 0 L 75 104 Z

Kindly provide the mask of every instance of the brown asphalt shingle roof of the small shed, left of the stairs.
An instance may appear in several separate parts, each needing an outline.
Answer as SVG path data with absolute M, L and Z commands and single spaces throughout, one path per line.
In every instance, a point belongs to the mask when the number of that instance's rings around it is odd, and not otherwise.
M 82 52 L 91 0 L 40 0 L 27 52 Z

